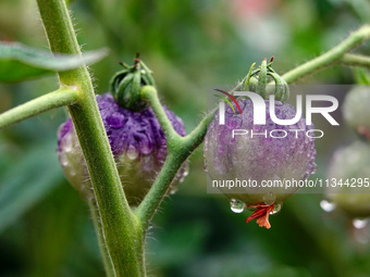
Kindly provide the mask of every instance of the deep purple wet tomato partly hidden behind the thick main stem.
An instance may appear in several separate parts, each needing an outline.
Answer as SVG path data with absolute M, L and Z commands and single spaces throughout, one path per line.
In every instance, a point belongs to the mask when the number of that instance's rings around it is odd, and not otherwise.
M 119 106 L 110 93 L 96 98 L 126 197 L 131 204 L 138 204 L 165 160 L 164 133 L 150 108 L 132 112 Z M 182 119 L 165 106 L 163 109 L 174 129 L 178 135 L 185 136 Z M 71 118 L 60 126 L 58 137 L 59 160 L 66 178 L 83 198 L 94 198 Z M 186 165 L 177 173 L 171 185 L 172 190 L 175 189 L 175 182 L 186 175 L 185 168 Z

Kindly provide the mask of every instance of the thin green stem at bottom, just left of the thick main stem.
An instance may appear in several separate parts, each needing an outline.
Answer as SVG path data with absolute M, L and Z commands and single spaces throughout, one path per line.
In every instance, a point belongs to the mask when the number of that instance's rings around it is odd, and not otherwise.
M 88 201 L 88 204 L 89 204 L 89 207 L 90 207 L 94 227 L 95 227 L 95 230 L 97 232 L 98 244 L 99 244 L 99 249 L 100 249 L 100 254 L 102 256 L 102 262 L 103 262 L 103 265 L 104 265 L 107 277 L 114 277 L 114 269 L 113 269 L 112 261 L 111 261 L 111 257 L 108 253 L 108 249 L 107 249 L 107 245 L 106 245 L 104 234 L 102 231 L 100 215 L 99 215 L 99 210 L 98 210 L 97 203 L 96 203 L 95 200 L 90 200 L 90 201 Z

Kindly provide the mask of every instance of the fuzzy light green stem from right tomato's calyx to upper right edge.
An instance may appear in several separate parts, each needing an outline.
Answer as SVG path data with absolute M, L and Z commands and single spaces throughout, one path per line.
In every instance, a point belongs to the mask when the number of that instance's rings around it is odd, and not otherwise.
M 370 38 L 370 25 L 363 25 L 360 29 L 353 33 L 347 39 L 334 47 L 326 53 L 299 65 L 298 67 L 282 75 L 286 83 L 295 81 L 312 72 L 320 70 L 331 63 L 340 61 L 346 52 L 355 48 L 359 43 Z

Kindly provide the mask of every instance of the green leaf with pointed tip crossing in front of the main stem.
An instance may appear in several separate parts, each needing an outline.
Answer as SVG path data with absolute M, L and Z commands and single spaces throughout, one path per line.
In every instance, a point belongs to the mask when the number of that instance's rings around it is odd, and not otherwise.
M 92 64 L 108 54 L 107 49 L 88 51 L 83 56 L 50 53 L 18 42 L 0 41 L 0 81 L 21 81 L 52 72 Z

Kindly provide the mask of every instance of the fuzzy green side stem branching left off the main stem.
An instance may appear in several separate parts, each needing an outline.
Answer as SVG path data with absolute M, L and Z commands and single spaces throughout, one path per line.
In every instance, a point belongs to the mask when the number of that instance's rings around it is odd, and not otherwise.
M 0 114 L 0 129 L 40 113 L 76 102 L 76 90 L 60 88 Z

